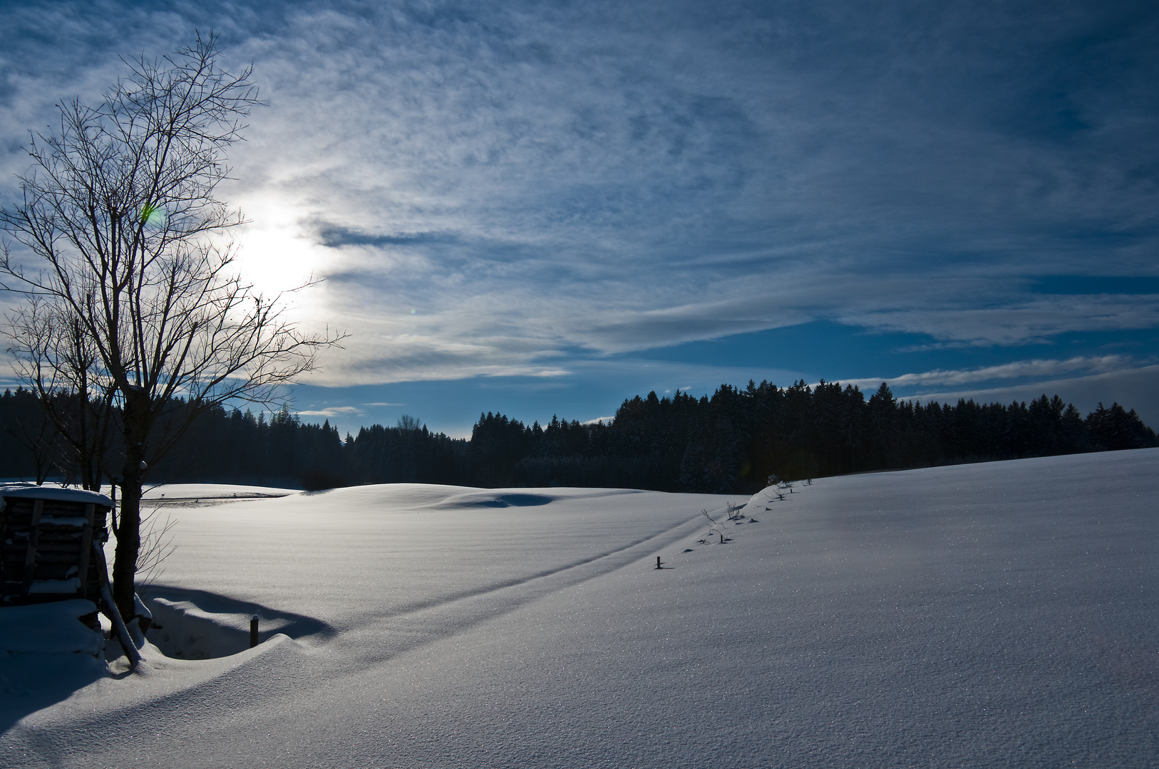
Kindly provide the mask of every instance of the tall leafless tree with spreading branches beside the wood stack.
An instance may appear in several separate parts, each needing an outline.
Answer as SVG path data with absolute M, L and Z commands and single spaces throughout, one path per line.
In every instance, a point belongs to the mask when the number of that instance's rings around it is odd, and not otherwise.
M 0 213 L 23 249 L 6 242 L 0 271 L 29 298 L 9 318 L 24 379 L 109 394 L 123 452 L 114 593 L 132 616 L 147 468 L 211 405 L 271 402 L 337 337 L 300 332 L 280 295 L 234 270 L 225 235 L 243 219 L 214 190 L 258 104 L 250 69 L 223 69 L 213 36 L 126 64 L 100 105 L 63 104 L 59 129 L 32 137 L 23 200 Z

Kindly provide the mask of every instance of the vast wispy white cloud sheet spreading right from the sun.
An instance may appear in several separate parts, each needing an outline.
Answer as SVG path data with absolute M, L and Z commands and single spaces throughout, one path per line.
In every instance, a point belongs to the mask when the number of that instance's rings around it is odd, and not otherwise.
M 1138 299 L 1059 307 L 1013 278 L 1088 269 L 1091 247 L 1052 230 L 1144 215 L 1139 193 L 1153 191 L 1057 174 L 1077 156 L 976 109 L 952 127 L 968 96 L 947 102 L 930 73 L 919 93 L 889 76 L 843 85 L 830 75 L 844 65 L 801 66 L 828 45 L 770 54 L 737 44 L 742 23 L 781 43 L 801 25 L 851 35 L 810 16 L 698 25 L 676 13 L 643 29 L 592 7 L 392 9 L 358 24 L 326 7 L 291 14 L 292 43 L 260 49 L 271 109 L 240 161 L 257 171 L 241 178 L 265 181 L 239 192 L 276 193 L 318 228 L 316 265 L 334 281 L 318 315 L 372 340 L 331 368 L 367 381 L 519 373 L 566 347 L 621 352 L 812 317 L 949 344 L 1156 323 Z M 870 60 L 920 72 L 881 31 Z M 925 45 L 949 57 L 943 74 L 992 67 L 955 60 L 948 39 Z M 749 67 L 766 76 L 729 76 Z M 826 112 L 811 107 L 818 93 Z M 285 146 L 294 166 L 261 173 Z M 1094 247 L 1105 269 L 1140 269 L 1131 247 Z M 413 308 L 424 336 L 382 321 Z

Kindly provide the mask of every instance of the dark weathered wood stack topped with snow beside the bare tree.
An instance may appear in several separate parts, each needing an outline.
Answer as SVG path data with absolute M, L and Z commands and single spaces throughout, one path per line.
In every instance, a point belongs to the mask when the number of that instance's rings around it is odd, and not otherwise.
M 86 598 L 101 602 L 112 501 L 50 486 L 0 486 L 0 607 Z M 99 555 L 99 554 L 97 554 Z

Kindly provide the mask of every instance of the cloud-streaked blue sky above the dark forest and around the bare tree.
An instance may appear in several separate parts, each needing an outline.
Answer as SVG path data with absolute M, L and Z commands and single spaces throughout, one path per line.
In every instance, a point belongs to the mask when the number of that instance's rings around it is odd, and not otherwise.
M 268 103 L 241 266 L 350 335 L 306 419 L 825 379 L 1159 426 L 1159 7 L 1113 6 L 0 3 L 0 200 L 57 100 L 212 29 Z

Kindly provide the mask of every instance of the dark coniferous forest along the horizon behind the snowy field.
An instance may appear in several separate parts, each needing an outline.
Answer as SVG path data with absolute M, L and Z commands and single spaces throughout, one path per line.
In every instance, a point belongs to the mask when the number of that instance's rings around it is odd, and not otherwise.
M 185 404 L 174 403 L 174 411 Z M 0 477 L 71 479 L 68 447 L 24 389 L 0 397 Z M 1117 403 L 1085 417 L 1058 396 L 1027 403 L 956 404 L 868 398 L 857 387 L 803 381 L 788 388 L 722 384 L 700 398 L 626 400 L 610 423 L 553 418 L 525 425 L 480 415 L 469 439 L 413 417 L 338 434 L 283 408 L 267 417 L 211 409 L 197 417 L 150 483 L 248 483 L 311 490 L 366 483 L 473 486 L 611 486 L 751 493 L 770 476 L 799 479 L 961 462 L 1159 446 Z M 107 452 L 116 459 L 117 447 Z M 105 463 L 117 467 L 117 461 Z

